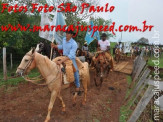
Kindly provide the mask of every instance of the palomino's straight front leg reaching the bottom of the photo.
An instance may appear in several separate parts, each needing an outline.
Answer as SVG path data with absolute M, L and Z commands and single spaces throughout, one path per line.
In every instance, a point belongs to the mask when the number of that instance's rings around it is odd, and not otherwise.
M 52 108 L 53 108 L 54 101 L 55 101 L 56 97 L 57 97 L 57 92 L 55 90 L 53 90 L 51 92 L 50 103 L 49 103 L 49 106 L 48 106 L 48 114 L 46 116 L 45 122 L 48 122 L 50 120 L 50 113 L 52 111 Z

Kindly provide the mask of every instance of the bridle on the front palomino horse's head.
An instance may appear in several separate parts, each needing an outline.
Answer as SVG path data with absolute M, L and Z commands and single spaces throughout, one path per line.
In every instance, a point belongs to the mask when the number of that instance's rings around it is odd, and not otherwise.
M 30 56 L 30 57 L 31 57 L 31 60 L 28 61 L 27 65 L 26 65 L 24 68 L 22 68 L 22 67 L 18 67 L 18 68 L 17 68 L 17 69 L 20 69 L 20 70 L 23 71 L 23 72 L 21 72 L 21 76 L 23 75 L 23 73 L 26 72 L 27 68 L 32 64 L 32 62 L 33 62 L 33 60 L 34 60 L 34 57 L 35 57 L 34 53 L 33 53 L 32 55 L 26 53 L 26 55 L 27 55 L 27 56 Z M 25 56 L 26 56 L 26 55 L 25 55 Z

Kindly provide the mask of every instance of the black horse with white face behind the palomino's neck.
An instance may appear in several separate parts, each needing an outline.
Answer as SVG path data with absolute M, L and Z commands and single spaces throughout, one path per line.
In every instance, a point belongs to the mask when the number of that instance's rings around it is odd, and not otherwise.
M 51 54 L 51 45 L 49 43 L 44 42 L 39 42 L 36 46 L 36 51 L 38 53 L 43 53 L 48 58 L 50 59 L 50 54 Z M 52 59 L 56 58 L 57 56 L 61 56 L 61 54 L 58 52 L 57 49 L 52 50 Z

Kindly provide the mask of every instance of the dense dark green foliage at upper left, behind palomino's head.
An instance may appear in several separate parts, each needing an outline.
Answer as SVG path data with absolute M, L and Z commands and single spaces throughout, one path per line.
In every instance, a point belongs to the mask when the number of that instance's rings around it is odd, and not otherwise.
M 0 2 L 1 4 L 2 2 Z M 2 6 L 0 6 L 0 11 L 2 10 Z M 30 27 L 33 25 L 40 24 L 40 16 L 38 13 L 35 13 L 33 16 L 29 16 L 25 13 L 8 13 L 5 10 L 0 14 L 0 27 L 8 26 L 11 24 L 13 26 L 17 26 L 21 24 L 22 26 L 26 26 L 30 24 Z M 14 53 L 15 56 L 23 56 L 32 46 L 35 46 L 36 43 L 40 40 L 38 36 L 38 32 L 30 32 L 30 31 L 21 31 L 18 29 L 17 31 L 0 31 L 0 48 L 7 47 L 7 53 Z

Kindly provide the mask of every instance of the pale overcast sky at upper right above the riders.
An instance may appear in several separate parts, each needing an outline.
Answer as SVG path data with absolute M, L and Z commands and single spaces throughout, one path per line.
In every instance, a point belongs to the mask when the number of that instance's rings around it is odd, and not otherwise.
M 111 19 L 117 26 L 119 25 L 134 25 L 142 27 L 142 22 L 147 21 L 147 25 L 154 25 L 152 31 L 145 32 L 122 32 L 122 41 L 137 41 L 141 37 L 145 37 L 150 43 L 159 41 L 163 44 L 163 0 L 99 0 L 100 6 L 106 3 L 115 6 L 112 13 L 100 12 L 96 16 L 100 16 L 105 20 Z M 158 31 L 159 38 L 152 38 L 155 31 Z M 116 32 L 116 37 L 110 41 L 118 42 L 121 38 L 121 33 Z

